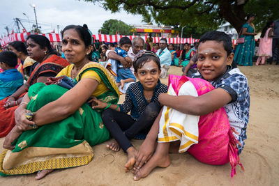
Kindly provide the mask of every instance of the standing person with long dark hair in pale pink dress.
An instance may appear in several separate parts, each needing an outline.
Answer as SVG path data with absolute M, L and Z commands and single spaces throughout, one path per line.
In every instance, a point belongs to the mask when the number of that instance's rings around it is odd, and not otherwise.
M 259 42 L 259 49 L 257 51 L 257 63 L 259 65 L 259 61 L 261 65 L 264 65 L 266 59 L 269 59 L 272 56 L 272 37 L 273 37 L 273 26 L 274 22 L 267 22 L 266 26 L 262 30 L 261 41 Z

